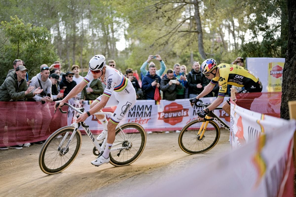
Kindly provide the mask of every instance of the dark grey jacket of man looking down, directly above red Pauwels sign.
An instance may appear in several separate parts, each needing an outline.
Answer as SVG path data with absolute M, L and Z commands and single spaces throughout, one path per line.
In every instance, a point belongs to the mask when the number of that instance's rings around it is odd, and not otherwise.
M 177 79 L 175 76 L 173 79 Z M 163 91 L 163 99 L 165 100 L 176 100 L 177 98 L 177 91 L 176 89 L 181 89 L 183 86 L 180 83 L 172 84 L 170 85 L 168 82 L 170 82 L 170 79 L 168 79 L 167 74 L 163 76 L 163 79 L 160 82 L 160 90 Z

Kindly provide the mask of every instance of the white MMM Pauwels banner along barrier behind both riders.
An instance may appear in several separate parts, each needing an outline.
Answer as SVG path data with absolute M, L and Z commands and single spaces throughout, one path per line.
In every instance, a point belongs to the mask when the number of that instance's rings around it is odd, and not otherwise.
M 216 97 L 202 98 L 204 103 L 212 103 Z M 224 100 L 228 99 L 225 97 Z M 92 101 L 85 104 L 79 104 L 78 100 L 70 99 L 70 104 L 75 107 L 83 107 L 85 111 L 89 110 Z M 116 107 L 103 108 L 103 111 L 114 112 Z M 191 107 L 189 99 L 178 99 L 174 101 L 161 100 L 159 105 L 154 100 L 137 100 L 136 104 L 128 111 L 126 116 L 120 121 L 120 124 L 127 122 L 136 122 L 143 126 L 146 131 L 176 131 L 181 130 L 187 123 L 197 118 L 197 112 L 201 108 Z M 230 124 L 230 117 L 224 110 L 215 110 L 215 112 L 225 123 Z M 77 113 L 69 109 L 68 125 L 76 120 Z M 107 115 L 107 120 L 109 116 Z M 90 130 L 96 134 L 102 131 L 102 124 L 94 115 L 86 119 L 86 124 Z M 82 127 L 80 128 L 83 129 Z

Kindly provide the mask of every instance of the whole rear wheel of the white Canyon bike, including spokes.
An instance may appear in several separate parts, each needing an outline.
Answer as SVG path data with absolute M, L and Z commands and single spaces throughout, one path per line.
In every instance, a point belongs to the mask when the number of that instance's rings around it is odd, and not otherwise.
M 146 132 L 141 125 L 138 123 L 125 123 L 120 127 L 126 137 L 117 128 L 113 144 L 119 144 L 113 145 L 112 148 L 128 148 L 110 152 L 110 163 L 114 166 L 130 165 L 140 157 L 146 145 Z

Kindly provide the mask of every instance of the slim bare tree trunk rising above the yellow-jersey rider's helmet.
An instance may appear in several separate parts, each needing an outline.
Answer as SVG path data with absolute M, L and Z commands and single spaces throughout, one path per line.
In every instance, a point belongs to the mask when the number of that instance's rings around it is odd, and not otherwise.
M 202 22 L 200 21 L 200 6 L 197 0 L 194 0 L 194 19 L 196 22 L 197 38 L 198 38 L 198 52 L 203 60 L 207 59 L 205 50 L 203 47 L 203 36 L 202 36 Z

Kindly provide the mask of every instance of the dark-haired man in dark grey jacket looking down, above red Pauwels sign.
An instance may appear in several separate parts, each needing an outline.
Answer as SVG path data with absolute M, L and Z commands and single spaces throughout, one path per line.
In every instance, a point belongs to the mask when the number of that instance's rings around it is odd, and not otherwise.
M 163 91 L 163 99 L 176 100 L 177 89 L 181 88 L 182 85 L 174 76 L 174 71 L 172 69 L 168 69 L 167 74 L 163 76 L 163 79 L 160 82 L 160 90 Z

